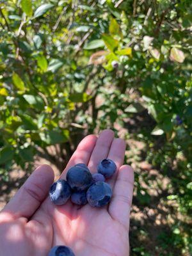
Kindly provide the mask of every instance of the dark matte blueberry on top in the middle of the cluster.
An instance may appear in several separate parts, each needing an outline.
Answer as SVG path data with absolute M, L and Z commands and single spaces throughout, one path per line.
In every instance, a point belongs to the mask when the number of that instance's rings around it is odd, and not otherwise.
M 67 172 L 67 182 L 72 189 L 77 191 L 86 190 L 92 184 L 92 174 L 81 167 L 74 166 Z

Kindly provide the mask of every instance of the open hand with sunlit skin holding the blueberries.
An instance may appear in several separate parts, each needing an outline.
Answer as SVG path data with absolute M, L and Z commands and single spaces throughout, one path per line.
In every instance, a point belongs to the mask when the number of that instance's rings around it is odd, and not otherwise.
M 125 142 L 111 130 L 86 136 L 70 158 L 61 178 L 77 163 L 97 170 L 100 160 L 115 161 L 118 172 L 107 180 L 113 188 L 102 209 L 70 202 L 56 206 L 47 197 L 54 180 L 49 165 L 39 166 L 0 212 L 0 256 L 47 256 L 52 246 L 66 245 L 76 256 L 129 255 L 129 214 L 134 174 L 124 162 Z

